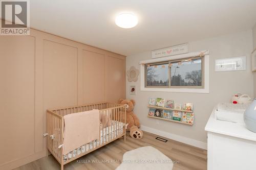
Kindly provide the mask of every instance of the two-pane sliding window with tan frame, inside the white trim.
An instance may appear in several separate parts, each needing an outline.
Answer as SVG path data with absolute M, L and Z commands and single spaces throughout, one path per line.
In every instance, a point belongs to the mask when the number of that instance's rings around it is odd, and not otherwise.
M 145 87 L 203 88 L 204 57 L 170 60 L 145 66 Z

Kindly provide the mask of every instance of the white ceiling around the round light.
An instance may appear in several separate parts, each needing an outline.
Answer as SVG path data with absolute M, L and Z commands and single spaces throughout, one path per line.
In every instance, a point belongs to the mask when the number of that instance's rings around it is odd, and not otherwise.
M 115 16 L 132 12 L 135 28 Z M 251 29 L 255 0 L 30 0 L 32 28 L 122 55 Z

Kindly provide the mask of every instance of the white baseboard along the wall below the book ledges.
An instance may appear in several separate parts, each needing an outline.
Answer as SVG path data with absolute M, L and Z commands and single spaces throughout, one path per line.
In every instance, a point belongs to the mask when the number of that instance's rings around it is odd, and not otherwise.
M 140 129 L 143 130 L 143 131 L 146 131 L 146 132 L 154 133 L 154 134 L 159 135 L 159 136 L 163 136 L 163 137 L 173 139 L 173 140 L 176 140 L 176 141 L 179 141 L 179 142 L 182 142 L 182 143 L 186 143 L 186 144 L 192 145 L 192 146 L 197 147 L 197 148 L 207 150 L 207 143 L 199 141 L 199 140 L 190 139 L 190 138 L 180 136 L 180 135 L 176 135 L 176 134 L 173 134 L 173 133 L 160 131 L 158 129 L 150 128 L 150 127 L 143 126 L 143 125 L 141 125 Z

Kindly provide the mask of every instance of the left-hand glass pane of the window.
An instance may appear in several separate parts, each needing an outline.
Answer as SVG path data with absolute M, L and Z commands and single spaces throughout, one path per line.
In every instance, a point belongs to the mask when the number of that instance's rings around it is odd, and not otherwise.
M 168 86 L 169 71 L 168 63 L 153 66 L 146 66 L 147 86 Z

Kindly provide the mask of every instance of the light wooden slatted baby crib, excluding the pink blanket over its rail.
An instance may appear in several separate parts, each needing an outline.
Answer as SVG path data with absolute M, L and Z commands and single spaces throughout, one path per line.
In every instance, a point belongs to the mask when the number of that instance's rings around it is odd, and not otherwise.
M 90 143 L 84 143 L 81 147 L 72 151 L 71 155 L 63 155 L 63 133 L 64 133 L 64 118 L 63 116 L 67 114 L 73 114 L 83 111 L 89 111 L 93 109 L 99 109 L 100 114 L 110 113 L 111 126 L 100 127 L 99 130 L 99 139 L 94 140 Z M 99 120 L 100 121 L 100 120 Z M 104 125 L 104 123 L 102 123 Z M 88 125 L 90 126 L 90 125 Z M 47 110 L 47 148 L 51 154 L 56 158 L 56 160 L 61 165 L 61 170 L 63 170 L 64 165 L 86 155 L 100 147 L 103 147 L 105 144 L 108 144 L 118 138 L 124 137 L 126 134 L 126 108 L 124 105 L 114 104 L 114 103 L 95 103 L 95 104 L 86 104 L 82 106 L 60 108 L 54 110 Z M 95 144 L 96 143 L 96 144 Z M 89 144 L 89 147 L 88 147 Z M 85 151 L 83 148 L 85 147 Z M 88 149 L 89 148 L 89 149 Z M 80 149 L 80 151 L 79 151 Z M 75 152 L 77 154 L 75 154 Z M 79 153 L 79 154 L 78 154 Z

